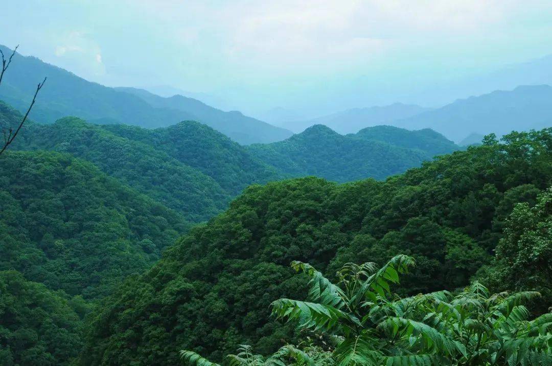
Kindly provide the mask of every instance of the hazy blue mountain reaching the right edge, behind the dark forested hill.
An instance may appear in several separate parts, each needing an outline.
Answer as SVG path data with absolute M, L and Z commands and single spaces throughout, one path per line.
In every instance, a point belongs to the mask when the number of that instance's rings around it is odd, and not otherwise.
M 423 112 L 392 125 L 410 129 L 432 128 L 453 141 L 470 133 L 496 133 L 541 129 L 552 125 L 552 87 L 521 86 L 459 99 L 436 110 Z

